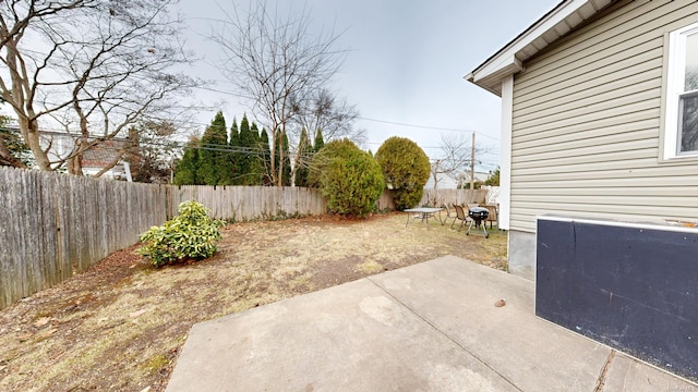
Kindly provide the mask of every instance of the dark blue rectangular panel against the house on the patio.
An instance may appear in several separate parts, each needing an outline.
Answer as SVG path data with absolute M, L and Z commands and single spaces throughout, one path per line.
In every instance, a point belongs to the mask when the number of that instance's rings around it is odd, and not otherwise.
M 535 314 L 698 380 L 698 231 L 539 219 Z

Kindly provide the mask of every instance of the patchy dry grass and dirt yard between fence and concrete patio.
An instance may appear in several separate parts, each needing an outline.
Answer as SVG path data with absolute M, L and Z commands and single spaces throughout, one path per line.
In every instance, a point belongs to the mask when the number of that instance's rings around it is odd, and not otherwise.
M 164 391 L 196 322 L 444 255 L 506 269 L 506 234 L 406 228 L 401 213 L 222 234 L 210 259 L 157 270 L 132 247 L 0 310 L 0 390 Z

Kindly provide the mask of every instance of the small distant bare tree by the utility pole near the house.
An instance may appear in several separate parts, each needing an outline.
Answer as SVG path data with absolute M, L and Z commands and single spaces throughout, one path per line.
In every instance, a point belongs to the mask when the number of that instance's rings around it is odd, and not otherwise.
M 472 144 L 467 134 L 442 134 L 441 154 L 438 158 L 432 159 L 431 175 L 434 180 L 434 189 L 438 186 L 440 175 L 447 175 L 455 181 L 469 173 L 472 163 Z M 488 149 L 476 145 L 476 157 L 488 152 Z M 470 174 L 467 174 L 469 177 Z

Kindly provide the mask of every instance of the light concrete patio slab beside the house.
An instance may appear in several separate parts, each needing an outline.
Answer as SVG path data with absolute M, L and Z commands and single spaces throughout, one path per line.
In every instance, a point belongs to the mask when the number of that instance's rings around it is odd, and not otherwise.
M 450 256 L 373 275 L 195 324 L 167 391 L 698 391 L 537 318 L 533 292 Z

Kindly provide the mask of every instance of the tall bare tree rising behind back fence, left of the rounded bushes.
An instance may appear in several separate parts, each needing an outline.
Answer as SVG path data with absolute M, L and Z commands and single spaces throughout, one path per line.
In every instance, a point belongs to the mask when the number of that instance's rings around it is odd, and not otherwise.
M 252 112 L 269 130 L 275 149 L 303 112 L 302 106 L 312 101 L 311 95 L 330 83 L 346 51 L 336 48 L 339 35 L 334 32 L 311 34 L 305 9 L 281 16 L 265 1 L 251 1 L 244 14 L 231 7 L 210 38 L 224 54 L 220 70 L 240 95 L 251 97 Z M 281 185 L 282 164 L 277 158 L 284 161 L 282 151 L 273 150 L 272 180 Z

